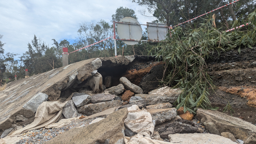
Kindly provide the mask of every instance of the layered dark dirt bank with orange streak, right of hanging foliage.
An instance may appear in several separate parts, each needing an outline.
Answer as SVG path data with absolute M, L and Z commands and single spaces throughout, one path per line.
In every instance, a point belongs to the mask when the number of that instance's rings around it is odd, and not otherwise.
M 234 117 L 256 123 L 256 47 L 226 53 L 215 52 L 207 59 L 209 75 L 218 89 L 209 96 L 219 111 L 229 102 Z M 226 112 L 230 114 L 230 112 Z

